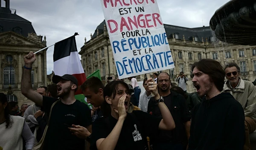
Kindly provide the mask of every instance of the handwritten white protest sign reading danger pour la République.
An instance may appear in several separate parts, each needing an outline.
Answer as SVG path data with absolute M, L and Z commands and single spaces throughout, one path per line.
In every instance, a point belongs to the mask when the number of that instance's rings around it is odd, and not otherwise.
M 157 0 L 101 0 L 119 79 L 174 68 Z

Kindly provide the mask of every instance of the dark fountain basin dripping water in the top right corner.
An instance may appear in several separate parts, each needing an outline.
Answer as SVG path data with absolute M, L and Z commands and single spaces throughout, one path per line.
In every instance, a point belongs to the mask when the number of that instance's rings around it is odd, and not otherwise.
M 215 36 L 236 45 L 256 45 L 256 1 L 230 0 L 210 20 Z

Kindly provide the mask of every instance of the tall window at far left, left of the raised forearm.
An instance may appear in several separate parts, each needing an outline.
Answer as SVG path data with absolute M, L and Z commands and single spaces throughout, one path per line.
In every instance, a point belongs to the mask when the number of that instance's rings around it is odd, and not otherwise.
M 3 68 L 3 85 L 15 85 L 15 68 L 12 66 Z

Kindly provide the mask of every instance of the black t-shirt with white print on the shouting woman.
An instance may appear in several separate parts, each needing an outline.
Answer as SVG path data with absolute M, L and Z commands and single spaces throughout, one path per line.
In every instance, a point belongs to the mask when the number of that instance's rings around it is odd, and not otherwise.
M 161 119 L 140 110 L 133 111 L 133 114 L 128 113 L 115 150 L 145 150 L 147 136 L 157 133 Z M 96 119 L 92 126 L 92 150 L 97 150 L 96 141 L 106 138 L 116 123 L 117 119 L 112 116 Z

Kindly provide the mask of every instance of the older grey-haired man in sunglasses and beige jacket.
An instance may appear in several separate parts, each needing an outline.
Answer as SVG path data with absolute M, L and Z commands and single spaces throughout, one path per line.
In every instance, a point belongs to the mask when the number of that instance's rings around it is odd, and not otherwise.
M 228 63 L 224 71 L 227 82 L 223 91 L 231 93 L 244 108 L 246 137 L 244 150 L 250 150 L 249 135 L 256 129 L 256 88 L 252 82 L 239 77 L 240 68 L 236 63 Z

